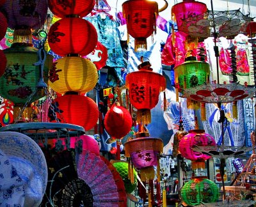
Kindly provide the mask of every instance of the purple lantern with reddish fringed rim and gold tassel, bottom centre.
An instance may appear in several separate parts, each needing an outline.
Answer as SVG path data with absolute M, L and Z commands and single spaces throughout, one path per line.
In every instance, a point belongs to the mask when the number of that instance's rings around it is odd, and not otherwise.
M 125 156 L 140 169 L 141 180 L 154 180 L 154 166 L 157 166 L 157 177 L 160 176 L 159 155 L 163 153 L 163 141 L 158 138 L 140 137 L 125 142 Z

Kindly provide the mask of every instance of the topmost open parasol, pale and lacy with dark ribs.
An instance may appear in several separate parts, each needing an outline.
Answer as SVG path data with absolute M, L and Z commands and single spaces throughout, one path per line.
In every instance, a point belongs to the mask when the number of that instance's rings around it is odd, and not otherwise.
M 179 31 L 191 36 L 207 38 L 209 36 L 227 36 L 232 38 L 246 31 L 253 18 L 244 15 L 240 10 L 210 11 L 182 19 Z

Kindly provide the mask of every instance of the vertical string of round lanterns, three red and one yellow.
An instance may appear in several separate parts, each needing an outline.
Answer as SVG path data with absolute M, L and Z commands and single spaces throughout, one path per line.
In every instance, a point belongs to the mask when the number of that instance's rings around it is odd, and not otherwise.
M 62 56 L 54 61 L 49 72 L 49 86 L 60 93 L 54 100 L 57 119 L 90 130 L 97 123 L 99 109 L 89 97 L 81 94 L 91 91 L 97 83 L 98 73 L 92 61 L 84 59 L 97 45 L 97 31 L 82 19 L 92 11 L 95 0 L 49 1 L 49 8 L 62 19 L 52 24 L 48 42 L 51 50 Z M 51 121 L 56 117 L 49 111 Z

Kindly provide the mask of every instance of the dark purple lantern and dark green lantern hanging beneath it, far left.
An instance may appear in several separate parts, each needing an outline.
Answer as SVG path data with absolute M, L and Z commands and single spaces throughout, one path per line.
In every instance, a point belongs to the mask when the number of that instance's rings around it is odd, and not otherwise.
M 47 75 L 40 76 L 47 74 L 52 65 L 52 57 L 48 54 L 44 57 L 43 66 L 35 64 L 39 59 L 38 49 L 32 47 L 32 29 L 40 29 L 44 24 L 47 1 L 6 1 L 3 4 L 3 13 L 6 15 L 8 27 L 14 29 L 14 32 L 12 46 L 3 51 L 7 63 L 0 78 L 0 94 L 15 106 L 23 107 L 24 104 L 31 104 L 44 96 L 43 93 L 36 93 L 38 82 L 41 78 L 48 81 Z M 35 95 L 31 97 L 33 94 Z

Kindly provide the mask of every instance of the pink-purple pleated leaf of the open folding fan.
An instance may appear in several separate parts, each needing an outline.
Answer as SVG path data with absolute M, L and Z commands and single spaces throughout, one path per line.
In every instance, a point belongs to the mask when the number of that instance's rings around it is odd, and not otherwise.
M 100 157 L 90 152 L 79 155 L 77 174 L 91 188 L 93 206 L 118 207 L 119 195 L 113 174 Z

